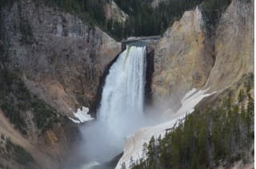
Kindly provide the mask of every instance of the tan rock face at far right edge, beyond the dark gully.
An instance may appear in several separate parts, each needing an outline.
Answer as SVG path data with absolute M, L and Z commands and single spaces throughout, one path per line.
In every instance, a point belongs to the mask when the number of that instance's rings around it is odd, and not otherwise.
M 206 88 L 222 90 L 254 73 L 254 1 L 233 0 L 215 33 L 216 61 Z

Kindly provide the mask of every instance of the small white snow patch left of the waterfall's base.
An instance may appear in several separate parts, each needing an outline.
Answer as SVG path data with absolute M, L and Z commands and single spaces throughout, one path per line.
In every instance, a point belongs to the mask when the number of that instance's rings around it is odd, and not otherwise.
M 74 116 L 78 119 L 78 120 L 75 120 L 73 119 L 72 117 L 69 117 L 70 120 L 72 120 L 74 123 L 76 124 L 81 124 L 81 123 L 84 123 L 86 121 L 90 121 L 90 120 L 94 120 L 94 118 L 92 118 L 89 114 L 89 108 L 86 108 L 86 107 L 83 107 L 82 106 L 82 109 L 81 108 L 78 108 L 78 111 L 77 112 L 73 112 L 74 113 Z

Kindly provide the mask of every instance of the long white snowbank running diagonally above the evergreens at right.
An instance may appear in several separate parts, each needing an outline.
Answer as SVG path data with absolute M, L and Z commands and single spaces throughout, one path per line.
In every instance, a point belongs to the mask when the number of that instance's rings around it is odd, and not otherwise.
M 124 153 L 122 158 L 119 159 L 116 169 L 122 168 L 122 165 L 126 165 L 126 168 L 129 168 L 130 158 L 132 157 L 134 161 L 145 158 L 142 155 L 142 148 L 144 143 L 148 143 L 152 136 L 158 137 L 159 135 L 164 135 L 166 129 L 173 128 L 174 124 L 183 119 L 186 114 L 194 112 L 194 107 L 198 104 L 204 97 L 210 96 L 215 92 L 207 94 L 208 89 L 206 90 L 196 90 L 193 88 L 190 92 L 187 92 L 182 99 L 182 107 L 178 109 L 175 113 L 169 113 L 168 119 L 162 124 L 158 124 L 153 127 L 141 128 L 134 135 L 129 136 L 126 140 L 126 145 L 124 147 Z

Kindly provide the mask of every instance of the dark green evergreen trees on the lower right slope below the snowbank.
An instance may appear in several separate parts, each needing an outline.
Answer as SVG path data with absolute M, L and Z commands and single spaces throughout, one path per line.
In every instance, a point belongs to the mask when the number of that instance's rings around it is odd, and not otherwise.
M 241 94 L 243 96 L 243 94 Z M 245 159 L 254 143 L 254 99 L 248 95 L 237 104 L 230 98 L 217 108 L 195 111 L 166 136 L 151 138 L 146 161 L 134 168 L 214 168 L 220 161 Z M 248 100 L 246 108 L 242 108 Z M 226 104 L 228 103 L 228 104 Z M 230 106 L 233 105 L 233 106 Z

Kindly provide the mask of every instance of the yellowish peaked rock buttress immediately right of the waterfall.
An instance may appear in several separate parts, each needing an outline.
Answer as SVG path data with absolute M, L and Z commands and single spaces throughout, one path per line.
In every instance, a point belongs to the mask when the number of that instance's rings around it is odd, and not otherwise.
M 154 55 L 154 102 L 169 100 L 174 108 L 191 88 L 201 88 L 214 63 L 202 12 L 186 11 L 166 30 Z

